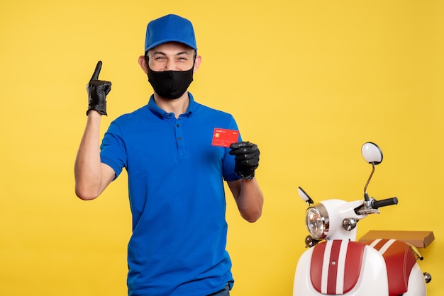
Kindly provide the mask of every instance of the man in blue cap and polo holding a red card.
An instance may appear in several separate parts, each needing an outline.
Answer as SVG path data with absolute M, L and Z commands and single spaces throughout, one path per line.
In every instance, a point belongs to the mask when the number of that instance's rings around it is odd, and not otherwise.
M 259 149 L 241 141 L 232 115 L 196 103 L 187 91 L 201 64 L 196 50 L 187 19 L 167 15 L 148 23 L 138 62 L 154 93 L 148 105 L 114 120 L 100 147 L 111 91 L 111 82 L 99 80 L 101 62 L 87 86 L 75 190 L 94 199 L 123 168 L 128 172 L 128 295 L 229 295 L 234 281 L 223 180 L 245 220 L 255 222 L 262 213 Z

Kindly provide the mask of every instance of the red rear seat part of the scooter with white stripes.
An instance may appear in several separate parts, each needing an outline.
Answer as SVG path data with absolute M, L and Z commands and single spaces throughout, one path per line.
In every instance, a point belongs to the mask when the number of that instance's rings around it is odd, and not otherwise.
M 389 280 L 389 296 L 407 292 L 411 268 L 416 263 L 409 245 L 396 239 L 375 239 L 367 244 L 384 257 Z

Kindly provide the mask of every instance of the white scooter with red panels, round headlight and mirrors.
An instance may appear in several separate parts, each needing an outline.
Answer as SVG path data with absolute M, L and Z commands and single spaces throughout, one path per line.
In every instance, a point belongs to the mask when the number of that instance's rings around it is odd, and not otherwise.
M 368 244 L 356 240 L 357 222 L 379 208 L 396 205 L 398 199 L 369 198 L 367 186 L 374 166 L 382 162 L 377 144 L 362 146 L 362 156 L 372 164 L 364 188 L 364 199 L 323 200 L 314 203 L 299 187 L 308 205 L 306 227 L 309 249 L 299 258 L 294 275 L 294 296 L 424 296 L 431 275 L 423 273 L 416 262 L 422 256 L 415 246 L 396 239 L 376 239 Z

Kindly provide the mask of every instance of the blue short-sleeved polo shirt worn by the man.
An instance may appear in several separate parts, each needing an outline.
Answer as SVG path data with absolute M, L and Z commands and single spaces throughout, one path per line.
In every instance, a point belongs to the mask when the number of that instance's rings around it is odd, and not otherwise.
M 230 149 L 211 145 L 216 127 L 238 130 L 232 115 L 189 93 L 179 118 L 151 96 L 104 135 L 101 161 L 116 178 L 123 168 L 128 172 L 129 295 L 209 295 L 233 283 L 223 180 L 239 177 Z

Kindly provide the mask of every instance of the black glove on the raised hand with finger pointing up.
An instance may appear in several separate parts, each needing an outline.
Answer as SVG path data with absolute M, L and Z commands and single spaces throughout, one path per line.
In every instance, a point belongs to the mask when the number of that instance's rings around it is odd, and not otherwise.
M 94 74 L 92 74 L 91 80 L 87 85 L 88 91 L 88 110 L 96 110 L 101 115 L 106 114 L 106 95 L 111 91 L 111 82 L 99 80 L 99 74 L 101 69 L 101 61 L 97 62 Z

